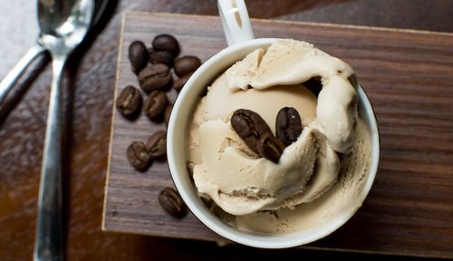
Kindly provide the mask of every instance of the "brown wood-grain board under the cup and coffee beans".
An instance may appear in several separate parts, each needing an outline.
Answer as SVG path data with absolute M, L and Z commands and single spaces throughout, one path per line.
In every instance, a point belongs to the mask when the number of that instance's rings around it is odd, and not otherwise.
M 304 40 L 351 64 L 379 122 L 381 161 L 369 197 L 347 224 L 307 247 L 453 258 L 453 34 L 269 20 L 253 27 L 256 37 Z M 139 86 L 129 44 L 149 45 L 163 33 L 178 38 L 183 55 L 203 61 L 226 47 L 216 16 L 124 14 L 115 98 L 127 85 Z M 173 90 L 168 95 L 176 98 Z M 176 219 L 160 208 L 159 191 L 173 187 L 165 161 L 140 173 L 126 160 L 133 140 L 165 124 L 115 112 L 111 121 L 102 229 L 220 239 L 192 214 Z

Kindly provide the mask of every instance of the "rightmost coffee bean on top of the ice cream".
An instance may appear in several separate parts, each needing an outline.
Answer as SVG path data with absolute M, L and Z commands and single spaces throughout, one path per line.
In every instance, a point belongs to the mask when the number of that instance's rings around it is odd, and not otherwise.
M 284 145 L 289 146 L 302 133 L 302 121 L 299 112 L 293 107 L 284 107 L 277 113 L 275 132 Z

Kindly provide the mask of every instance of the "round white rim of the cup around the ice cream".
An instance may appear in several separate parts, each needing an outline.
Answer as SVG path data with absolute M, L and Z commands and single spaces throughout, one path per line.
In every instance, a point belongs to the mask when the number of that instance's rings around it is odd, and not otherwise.
M 170 115 L 169 119 L 169 127 L 168 127 L 168 139 L 167 139 L 167 151 L 170 152 L 168 153 L 168 164 L 169 164 L 169 172 L 171 175 L 171 179 L 173 180 L 173 183 L 175 184 L 176 189 L 178 190 L 181 198 L 184 200 L 186 205 L 188 206 L 188 209 L 194 214 L 196 218 L 198 218 L 201 223 L 203 223 L 206 227 L 208 227 L 210 230 L 216 232 L 218 235 L 221 237 L 225 237 L 229 240 L 235 241 L 236 243 L 240 243 L 249 247 L 260 247 L 260 248 L 287 248 L 287 247 L 298 247 L 302 246 L 308 243 L 311 243 L 315 240 L 318 240 L 320 238 L 326 237 L 333 233 L 336 229 L 339 227 L 342 227 L 344 223 L 346 223 L 352 216 L 357 212 L 357 210 L 361 207 L 361 204 L 367 198 L 370 190 L 371 190 L 371 185 L 375 179 L 377 169 L 378 169 L 378 163 L 379 163 L 379 158 L 380 158 L 380 135 L 379 135 L 379 129 L 378 129 L 378 124 L 376 120 L 375 113 L 372 109 L 371 102 L 368 99 L 368 96 L 366 93 L 363 91 L 361 88 L 360 83 L 358 84 L 359 86 L 357 87 L 357 93 L 359 97 L 359 102 L 361 103 L 361 106 L 363 107 L 364 110 L 362 110 L 363 114 L 366 114 L 366 119 L 367 121 L 367 126 L 370 128 L 370 134 L 371 134 L 371 165 L 368 170 L 368 176 L 367 180 L 363 185 L 363 188 L 361 189 L 361 193 L 358 195 L 358 197 L 361 197 L 360 200 L 360 205 L 357 206 L 357 208 L 352 209 L 345 213 L 344 215 L 341 215 L 340 217 L 333 218 L 331 221 L 329 221 L 326 224 L 323 224 L 321 227 L 316 227 L 312 233 L 307 236 L 303 237 L 302 233 L 300 231 L 298 232 L 292 232 L 288 234 L 275 234 L 275 235 L 268 235 L 268 234 L 260 234 L 260 233 L 255 233 L 255 234 L 250 234 L 250 232 L 246 232 L 243 230 L 240 230 L 236 227 L 231 227 L 227 225 L 224 221 L 222 221 L 220 218 L 215 217 L 212 212 L 210 212 L 208 209 L 200 209 L 195 202 L 190 198 L 188 195 L 188 189 L 185 188 L 185 186 L 182 184 L 182 180 L 180 178 L 181 175 L 189 175 L 188 171 L 184 171 L 185 173 L 178 173 L 178 169 L 176 167 L 177 162 L 174 159 L 174 155 L 171 152 L 177 152 L 178 150 L 178 144 L 175 144 L 174 142 L 174 137 L 175 137 L 175 127 L 176 127 L 176 122 L 178 121 L 178 115 L 180 111 L 178 109 L 181 107 L 181 104 L 183 102 L 187 102 L 186 100 L 188 99 L 188 93 L 192 92 L 191 89 L 193 89 L 192 86 L 194 86 L 194 83 L 197 82 L 198 78 L 202 76 L 202 74 L 210 67 L 216 66 L 217 63 L 221 62 L 224 59 L 227 59 L 227 56 L 231 53 L 235 53 L 237 51 L 247 49 L 247 48 L 258 48 L 259 46 L 262 45 L 270 45 L 271 43 L 274 43 L 276 40 L 279 38 L 258 38 L 258 39 L 253 39 L 246 41 L 244 43 L 238 43 L 229 47 L 226 47 L 219 53 L 215 54 L 211 58 L 207 60 L 207 62 L 203 63 L 198 70 L 192 74 L 188 82 L 186 83 L 186 86 L 181 90 L 181 92 L 178 95 L 178 99 L 176 100 L 174 106 L 173 106 L 173 111 Z M 243 57 L 244 58 L 244 57 Z M 236 63 L 239 60 L 233 61 L 231 64 Z M 215 78 L 215 76 L 213 77 Z M 190 105 L 188 106 L 192 110 L 194 109 L 193 107 L 195 106 L 196 101 L 192 101 Z M 184 128 L 187 128 L 188 124 L 184 126 Z M 184 131 L 184 133 L 187 133 L 187 131 Z M 182 153 L 187 153 L 187 152 L 182 152 Z M 185 168 L 187 169 L 187 168 Z M 193 188 L 190 189 L 196 189 L 195 185 L 193 185 Z M 204 206 L 203 206 L 204 208 Z M 206 213 L 208 211 L 211 215 L 208 215 Z M 205 213 L 204 213 L 205 212 Z M 212 216 L 214 218 L 217 218 L 216 220 L 211 220 L 212 218 L 209 217 Z

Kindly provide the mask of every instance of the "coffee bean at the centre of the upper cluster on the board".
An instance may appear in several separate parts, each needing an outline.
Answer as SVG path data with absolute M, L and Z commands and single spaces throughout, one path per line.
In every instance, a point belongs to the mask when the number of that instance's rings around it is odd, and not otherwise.
M 161 89 L 170 81 L 169 66 L 163 63 L 148 65 L 139 73 L 140 87 L 145 92 Z

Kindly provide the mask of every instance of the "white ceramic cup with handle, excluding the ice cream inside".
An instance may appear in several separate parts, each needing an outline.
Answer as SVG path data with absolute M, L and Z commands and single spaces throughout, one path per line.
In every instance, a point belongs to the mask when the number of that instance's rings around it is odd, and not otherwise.
M 197 189 L 188 173 L 188 124 L 199 102 L 199 97 L 207 86 L 213 82 L 217 75 L 226 71 L 232 64 L 246 57 L 257 48 L 266 48 L 275 42 L 275 38 L 253 40 L 253 31 L 246 12 L 243 0 L 219 0 L 219 13 L 226 34 L 226 49 L 214 55 L 203 63 L 195 72 L 174 104 L 169 119 L 167 154 L 171 178 L 179 194 L 188 205 L 190 211 L 207 227 L 222 237 L 251 247 L 284 248 L 308 244 L 317 239 L 331 234 L 341 227 L 357 211 L 357 208 L 342 212 L 342 216 L 333 217 L 322 226 L 315 229 L 297 231 L 286 234 L 262 234 L 242 231 L 230 227 L 220 218 L 217 218 L 198 198 Z M 371 189 L 371 184 L 378 168 L 380 143 L 376 118 L 365 92 L 360 85 L 357 86 L 359 96 L 359 110 L 371 130 L 371 166 L 366 176 L 367 180 L 357 196 L 363 201 Z

